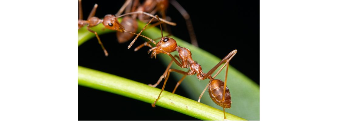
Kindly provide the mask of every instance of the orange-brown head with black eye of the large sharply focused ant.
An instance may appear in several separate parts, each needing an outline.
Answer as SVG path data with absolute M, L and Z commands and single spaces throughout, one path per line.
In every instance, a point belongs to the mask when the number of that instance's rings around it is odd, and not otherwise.
M 160 39 L 160 41 L 157 43 L 156 47 L 159 47 L 159 49 L 162 51 L 171 53 L 176 50 L 177 42 L 170 37 L 162 37 L 162 39 Z

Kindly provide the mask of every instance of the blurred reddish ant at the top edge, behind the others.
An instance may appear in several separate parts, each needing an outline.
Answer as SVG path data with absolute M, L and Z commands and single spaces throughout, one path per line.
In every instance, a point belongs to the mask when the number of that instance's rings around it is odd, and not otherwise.
M 138 1 L 139 0 L 135 0 L 135 2 L 138 2 Z M 170 0 L 170 3 L 181 13 L 183 18 L 185 19 L 188 32 L 189 32 L 189 36 L 190 36 L 190 40 L 191 40 L 191 44 L 198 47 L 196 35 L 195 35 L 192 22 L 191 22 L 188 12 L 185 11 L 185 9 L 176 0 Z M 143 4 L 138 6 L 136 11 L 143 11 L 143 12 L 147 12 L 150 14 L 156 14 L 158 12 L 160 13 L 160 15 L 162 15 L 162 19 L 166 19 L 165 11 L 168 8 L 168 6 L 169 6 L 168 0 L 145 0 Z M 134 17 L 136 16 L 137 15 L 135 15 Z M 141 21 L 146 21 L 146 20 L 149 20 L 149 17 L 140 14 L 138 15 L 138 19 Z M 162 24 L 162 25 L 165 28 L 166 32 L 170 31 L 169 29 L 167 29 L 166 24 Z M 155 26 L 155 25 L 151 25 L 151 26 Z

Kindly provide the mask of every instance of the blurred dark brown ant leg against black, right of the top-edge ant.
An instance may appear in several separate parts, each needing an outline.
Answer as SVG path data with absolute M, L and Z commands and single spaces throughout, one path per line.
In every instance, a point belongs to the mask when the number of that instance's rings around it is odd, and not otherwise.
M 196 35 L 195 35 L 188 12 L 185 11 L 185 9 L 176 0 L 170 0 L 170 3 L 181 13 L 183 18 L 185 19 L 185 22 L 187 24 L 187 28 L 189 31 L 190 39 L 191 39 L 191 44 L 198 47 Z

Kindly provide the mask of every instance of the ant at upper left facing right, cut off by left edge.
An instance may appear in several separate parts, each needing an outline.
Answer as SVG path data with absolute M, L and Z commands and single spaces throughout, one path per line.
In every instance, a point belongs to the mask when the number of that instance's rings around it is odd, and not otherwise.
M 152 14 L 149 14 L 149 13 L 146 13 L 146 12 L 142 12 L 142 11 L 131 12 L 131 13 L 126 13 L 126 14 L 123 14 L 123 15 L 119 15 L 122 12 L 122 10 L 128 5 L 129 1 L 131 1 L 131 0 L 128 0 L 127 2 L 124 3 L 124 5 L 118 11 L 117 15 L 107 14 L 107 15 L 105 15 L 104 19 L 100 19 L 98 17 L 95 17 L 96 9 L 98 7 L 98 4 L 95 4 L 95 6 L 92 8 L 92 11 L 91 11 L 90 15 L 88 16 L 87 20 L 83 20 L 83 12 L 82 12 L 81 0 L 78 0 L 78 2 L 79 2 L 79 6 L 78 6 L 78 8 L 79 8 L 78 9 L 78 11 L 79 11 L 78 29 L 80 29 L 81 27 L 87 25 L 87 30 L 92 32 L 92 33 L 94 33 L 94 34 L 96 34 L 98 42 L 99 42 L 100 46 L 102 47 L 105 56 L 108 56 L 108 53 L 107 53 L 105 47 L 103 46 L 103 43 L 100 41 L 100 38 L 99 38 L 97 32 L 95 32 L 92 29 L 90 29 L 90 27 L 94 27 L 94 26 L 97 26 L 98 24 L 102 23 L 105 26 L 105 28 L 107 28 L 107 29 L 116 30 L 116 31 L 119 31 L 119 32 L 127 32 L 127 33 L 131 33 L 131 34 L 137 35 L 136 33 L 126 31 L 124 29 L 124 27 L 118 22 L 117 18 L 126 16 L 126 15 L 132 15 L 132 14 L 144 14 L 144 15 L 147 15 L 147 16 L 150 16 L 150 17 L 155 17 Z M 169 21 L 166 21 L 164 19 L 160 19 L 160 21 L 162 21 L 164 23 L 167 23 L 167 24 L 170 24 L 170 25 L 173 25 L 173 26 L 176 25 L 176 23 L 169 22 Z M 152 39 L 150 39 L 150 38 L 148 38 L 146 36 L 143 36 L 143 35 L 138 35 L 138 36 L 142 36 L 144 38 L 147 38 L 152 43 L 156 44 L 155 41 L 153 41 Z

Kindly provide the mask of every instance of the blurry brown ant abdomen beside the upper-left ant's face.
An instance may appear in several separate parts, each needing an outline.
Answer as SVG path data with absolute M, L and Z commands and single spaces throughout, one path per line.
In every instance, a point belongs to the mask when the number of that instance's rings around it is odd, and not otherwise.
M 138 28 L 138 23 L 136 19 L 132 19 L 129 16 L 125 16 L 122 22 L 120 22 L 120 24 L 124 27 L 126 31 L 133 32 L 133 33 L 135 33 Z M 124 43 L 130 40 L 133 36 L 134 34 L 118 31 L 117 32 L 118 43 Z

